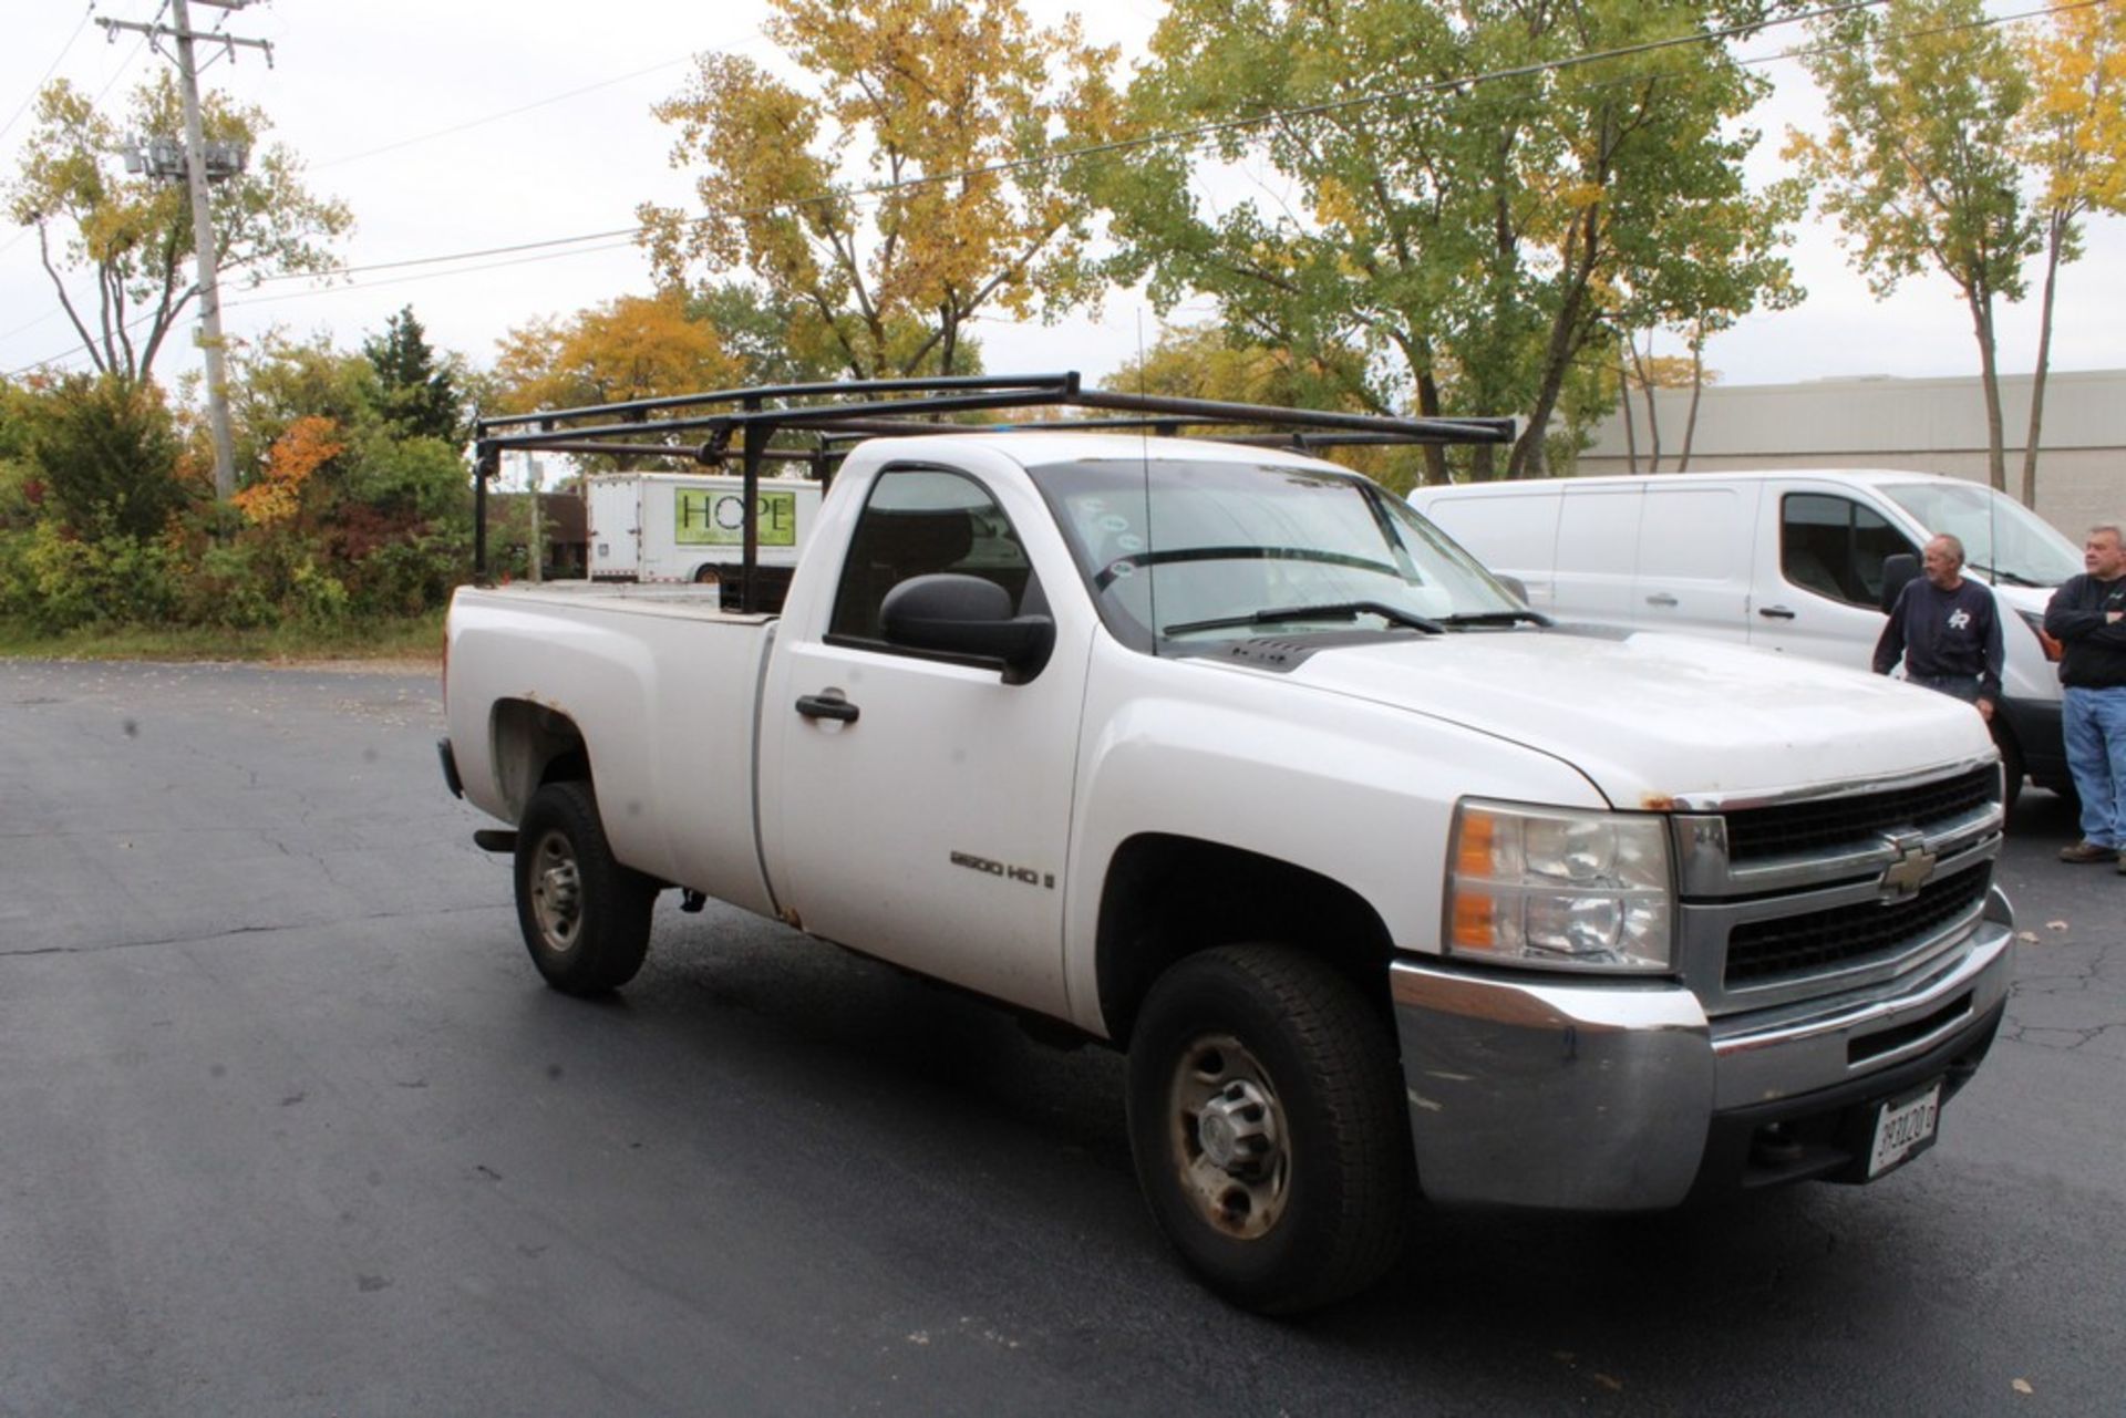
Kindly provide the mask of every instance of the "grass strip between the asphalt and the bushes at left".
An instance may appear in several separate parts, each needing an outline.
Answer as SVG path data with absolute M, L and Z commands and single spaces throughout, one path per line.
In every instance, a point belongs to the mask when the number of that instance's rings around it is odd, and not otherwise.
M 268 663 L 368 659 L 440 665 L 442 610 L 406 621 L 374 621 L 340 629 L 111 625 L 70 629 L 57 636 L 43 636 L 30 625 L 0 619 L 0 659 L 242 659 Z

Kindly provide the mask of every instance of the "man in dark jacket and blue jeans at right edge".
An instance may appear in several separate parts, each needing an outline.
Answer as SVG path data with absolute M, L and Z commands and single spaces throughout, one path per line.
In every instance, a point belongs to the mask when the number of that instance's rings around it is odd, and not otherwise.
M 2045 634 L 2060 657 L 2060 721 L 2066 767 L 2081 795 L 2081 842 L 2060 861 L 2117 861 L 2126 846 L 2126 548 L 2120 529 L 2090 527 L 2086 576 L 2071 576 L 2045 606 Z

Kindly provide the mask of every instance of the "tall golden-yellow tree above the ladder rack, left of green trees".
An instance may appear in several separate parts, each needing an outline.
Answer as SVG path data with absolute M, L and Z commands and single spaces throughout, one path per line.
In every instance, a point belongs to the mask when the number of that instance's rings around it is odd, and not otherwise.
M 702 204 L 638 208 L 661 278 L 750 270 L 797 308 L 793 347 L 855 378 L 952 374 L 969 321 L 1097 298 L 1089 202 L 1050 159 L 1112 136 L 1112 49 L 1076 19 L 1035 30 L 1016 0 L 770 11 L 804 91 L 710 53 L 655 111 Z

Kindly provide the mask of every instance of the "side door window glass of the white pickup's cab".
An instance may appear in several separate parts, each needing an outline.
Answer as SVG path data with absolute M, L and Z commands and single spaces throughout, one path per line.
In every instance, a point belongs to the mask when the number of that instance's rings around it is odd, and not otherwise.
M 1018 531 L 980 483 L 944 468 L 889 468 L 857 514 L 827 638 L 884 644 L 878 608 L 887 591 L 935 572 L 980 576 L 1020 612 L 1040 608 Z

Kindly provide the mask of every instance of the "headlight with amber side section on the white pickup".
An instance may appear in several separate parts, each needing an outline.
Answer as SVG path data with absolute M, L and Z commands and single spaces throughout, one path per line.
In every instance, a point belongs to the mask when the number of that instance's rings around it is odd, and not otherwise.
M 1537 969 L 1673 967 L 1658 816 L 1465 801 L 1448 857 L 1448 955 Z

